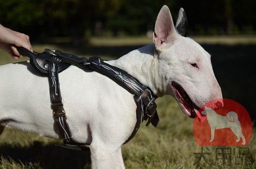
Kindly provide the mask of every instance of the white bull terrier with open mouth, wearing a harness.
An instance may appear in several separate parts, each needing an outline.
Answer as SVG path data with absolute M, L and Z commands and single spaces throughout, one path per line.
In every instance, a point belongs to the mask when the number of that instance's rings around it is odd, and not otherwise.
M 195 116 L 205 103 L 222 98 L 210 55 L 186 32 L 183 9 L 174 26 L 167 6 L 160 10 L 154 44 L 108 63 L 124 69 L 154 94 L 173 95 Z M 0 66 L 0 125 L 60 138 L 54 125 L 47 77 L 22 62 Z M 133 95 L 96 72 L 70 66 L 59 74 L 62 101 L 73 139 L 90 144 L 93 168 L 124 168 L 121 146 L 136 124 Z

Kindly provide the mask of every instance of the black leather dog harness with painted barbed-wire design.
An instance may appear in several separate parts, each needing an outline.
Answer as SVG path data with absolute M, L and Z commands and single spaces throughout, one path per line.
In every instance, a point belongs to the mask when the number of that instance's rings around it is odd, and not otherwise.
M 146 126 L 151 123 L 157 127 L 159 122 L 156 111 L 157 105 L 155 103 L 157 96 L 153 94 L 150 88 L 143 86 L 137 79 L 126 73 L 126 71 L 105 63 L 100 57 L 87 59 L 49 49 L 45 49 L 43 53 L 32 53 L 24 47 L 17 47 L 17 49 L 20 53 L 30 58 L 31 65 L 42 76 L 48 76 L 53 117 L 57 123 L 61 139 L 65 144 L 82 144 L 72 139 L 72 133 L 66 122 L 66 112 L 63 108 L 60 95 L 58 73 L 67 69 L 70 65 L 75 65 L 87 72 L 96 71 L 107 76 L 134 95 L 134 101 L 137 105 L 137 122 L 131 136 L 124 143 L 134 137 L 143 120 L 148 119 Z

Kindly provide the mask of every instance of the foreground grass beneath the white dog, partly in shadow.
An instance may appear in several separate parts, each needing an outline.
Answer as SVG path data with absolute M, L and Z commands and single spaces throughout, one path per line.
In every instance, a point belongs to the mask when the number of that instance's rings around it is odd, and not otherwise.
M 201 147 L 193 136 L 193 119 L 186 117 L 170 96 L 157 100 L 160 124 L 157 128 L 142 124 L 136 136 L 122 147 L 126 168 L 256 168 L 252 165 L 234 165 L 237 147 L 231 147 L 232 164 L 208 165 L 203 159 L 197 165 L 193 153 Z M 253 131 L 247 147 L 255 161 L 256 138 Z M 90 168 L 90 153 L 54 147 L 61 140 L 39 137 L 14 129 L 5 129 L 0 137 L 0 168 Z M 215 149 L 207 147 L 215 160 Z

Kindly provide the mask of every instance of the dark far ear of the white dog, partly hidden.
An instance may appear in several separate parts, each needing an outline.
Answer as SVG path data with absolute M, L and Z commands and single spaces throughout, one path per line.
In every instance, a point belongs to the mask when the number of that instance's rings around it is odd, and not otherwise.
M 187 25 L 187 17 L 183 8 L 180 8 L 178 19 L 175 25 L 176 31 L 184 37 L 189 37 L 188 35 L 188 25 Z

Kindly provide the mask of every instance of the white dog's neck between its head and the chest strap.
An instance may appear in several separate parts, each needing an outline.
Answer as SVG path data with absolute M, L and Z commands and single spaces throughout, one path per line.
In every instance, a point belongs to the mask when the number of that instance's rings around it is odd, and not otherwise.
M 154 94 L 162 96 L 163 89 L 159 84 L 161 81 L 158 76 L 158 61 L 154 53 L 156 53 L 155 46 L 150 44 L 108 63 L 127 71 L 141 84 L 149 87 Z

